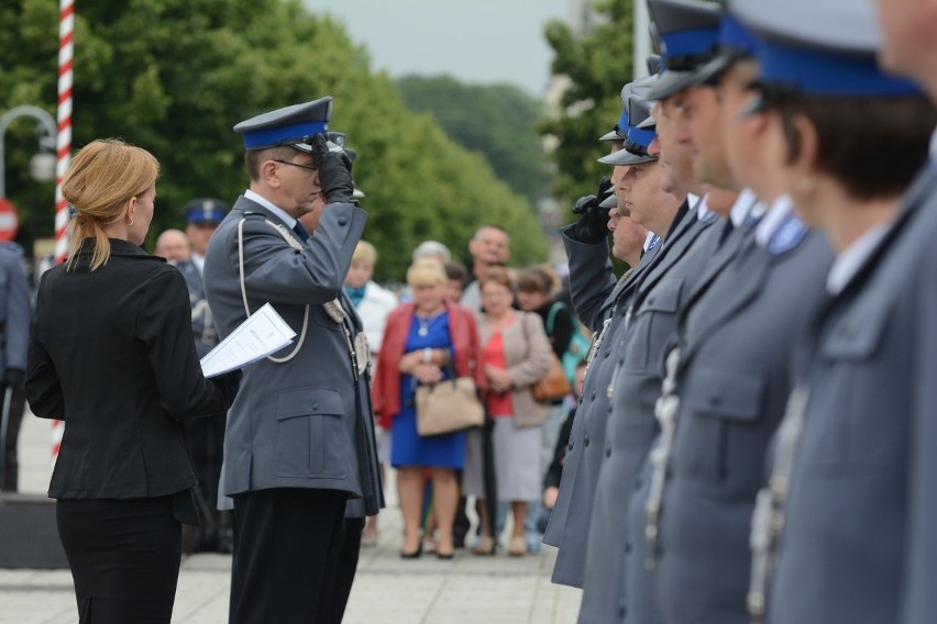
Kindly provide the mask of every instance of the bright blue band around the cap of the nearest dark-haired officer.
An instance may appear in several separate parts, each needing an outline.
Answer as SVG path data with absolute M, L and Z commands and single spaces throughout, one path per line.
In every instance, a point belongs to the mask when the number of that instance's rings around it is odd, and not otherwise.
M 761 79 L 814 96 L 903 96 L 919 92 L 908 80 L 885 76 L 874 56 L 834 55 L 779 42 L 758 47 Z

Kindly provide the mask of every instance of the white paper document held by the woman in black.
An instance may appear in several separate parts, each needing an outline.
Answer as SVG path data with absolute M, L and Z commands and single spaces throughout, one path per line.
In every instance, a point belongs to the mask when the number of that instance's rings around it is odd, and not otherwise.
M 201 358 L 201 371 L 214 377 L 241 368 L 278 352 L 293 343 L 295 335 L 273 305 L 265 303 Z

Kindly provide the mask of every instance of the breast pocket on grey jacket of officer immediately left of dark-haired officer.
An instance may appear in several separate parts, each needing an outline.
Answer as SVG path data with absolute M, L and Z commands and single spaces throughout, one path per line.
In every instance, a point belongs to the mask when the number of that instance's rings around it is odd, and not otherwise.
M 770 432 L 760 432 L 764 392 L 759 371 L 717 363 L 696 371 L 681 392 L 676 469 L 727 493 L 757 489 L 770 437 Z

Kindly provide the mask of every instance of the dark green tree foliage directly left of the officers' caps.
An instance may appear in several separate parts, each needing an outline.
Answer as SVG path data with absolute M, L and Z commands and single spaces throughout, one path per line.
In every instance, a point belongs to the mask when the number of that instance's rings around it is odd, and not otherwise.
M 594 193 L 598 179 L 611 167 L 596 163 L 606 144 L 597 138 L 611 130 L 621 114 L 621 87 L 631 80 L 633 0 L 600 0 L 605 18 L 592 33 L 576 36 L 563 22 L 548 23 L 547 41 L 553 48 L 553 75 L 569 77 L 560 114 L 547 120 L 541 132 L 559 140 L 551 157 L 556 165 L 553 194 L 560 205 Z M 564 211 L 565 221 L 572 212 Z

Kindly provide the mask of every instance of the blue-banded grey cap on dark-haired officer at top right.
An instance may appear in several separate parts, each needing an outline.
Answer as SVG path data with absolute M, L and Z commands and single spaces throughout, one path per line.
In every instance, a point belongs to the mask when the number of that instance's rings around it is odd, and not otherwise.
M 875 63 L 881 34 L 871 2 L 732 0 L 732 14 L 758 37 L 765 91 L 808 97 L 890 97 L 919 92 Z M 836 27 L 830 27 L 835 24 Z M 763 107 L 764 94 L 752 110 Z

